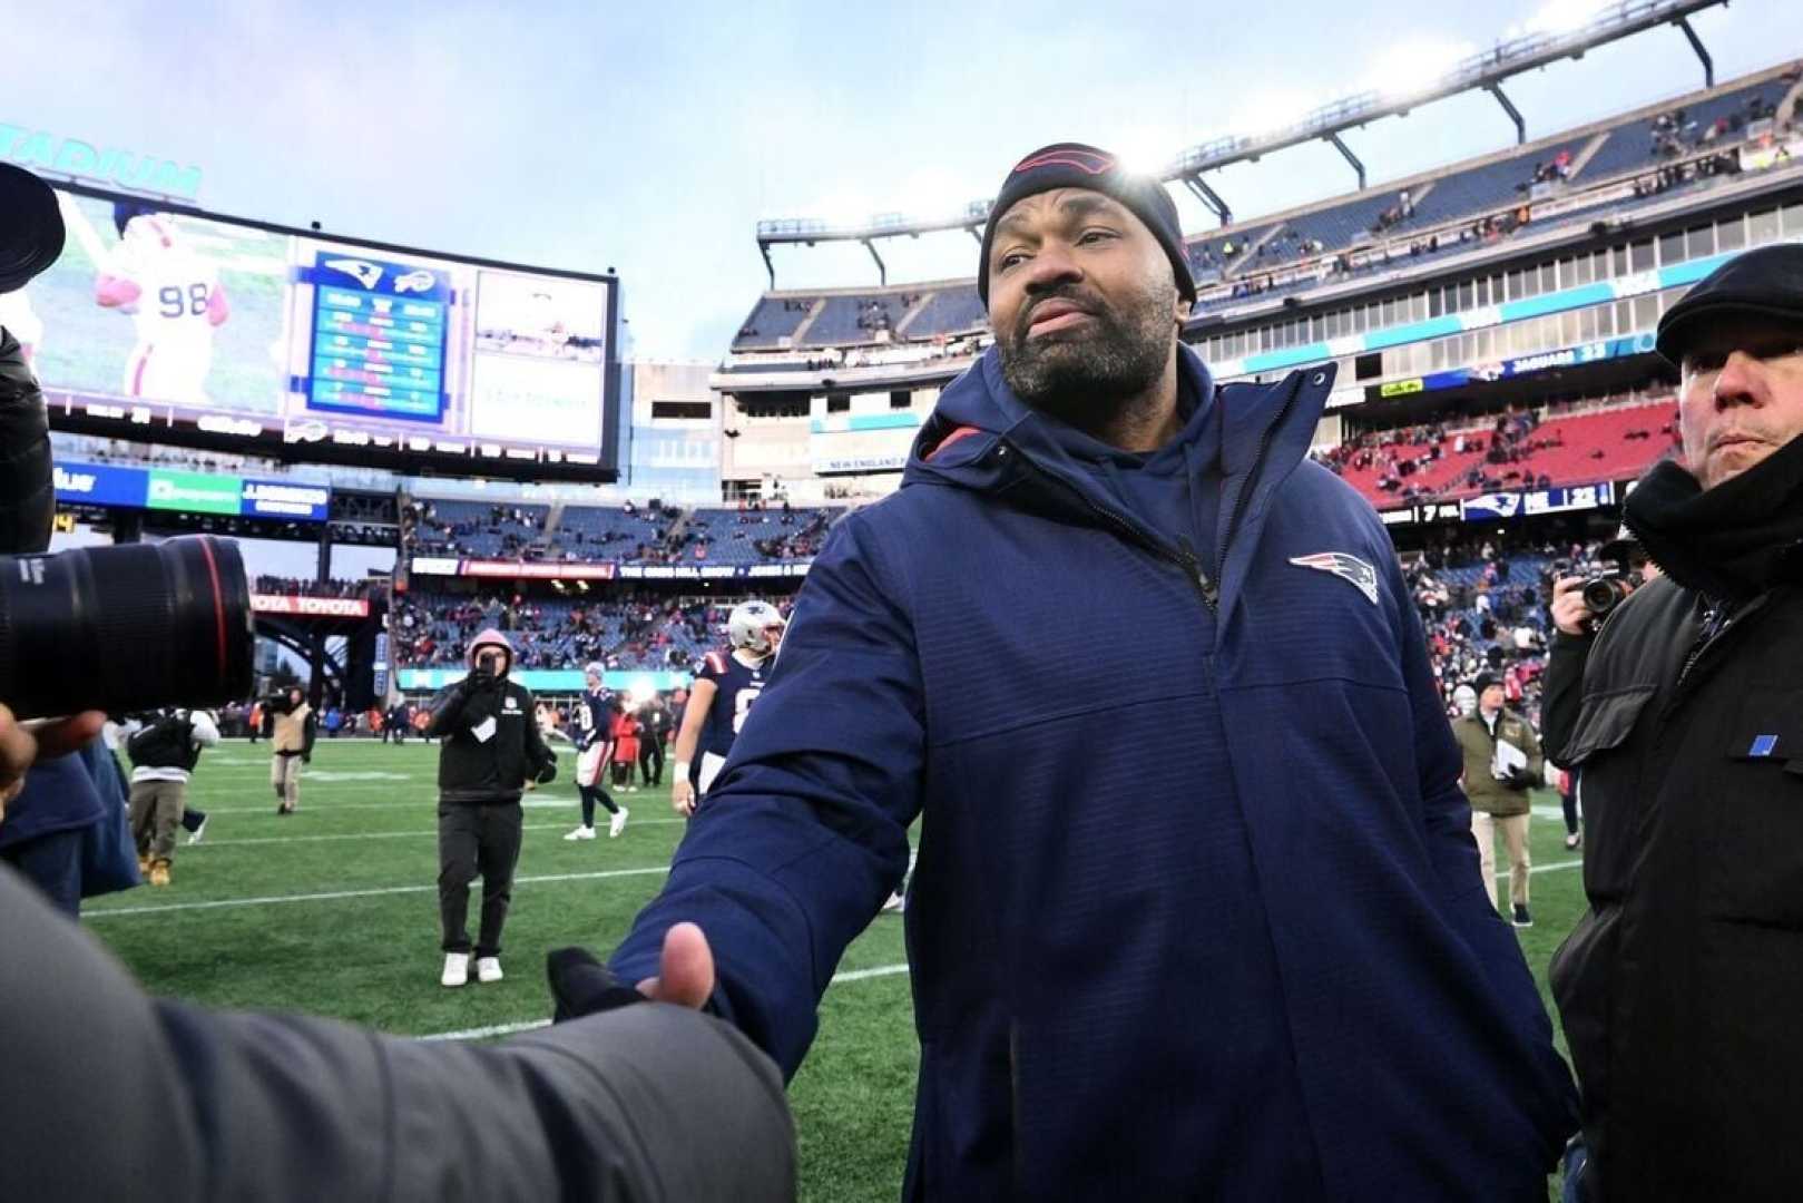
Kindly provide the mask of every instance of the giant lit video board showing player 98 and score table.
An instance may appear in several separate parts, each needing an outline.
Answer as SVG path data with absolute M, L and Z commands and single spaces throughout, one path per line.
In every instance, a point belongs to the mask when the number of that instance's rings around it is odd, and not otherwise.
M 400 473 L 606 482 L 618 281 L 58 184 L 0 325 L 58 429 Z

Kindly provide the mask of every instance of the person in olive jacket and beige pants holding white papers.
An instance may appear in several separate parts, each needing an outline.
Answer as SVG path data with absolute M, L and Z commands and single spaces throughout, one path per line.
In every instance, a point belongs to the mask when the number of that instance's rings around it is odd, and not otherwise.
M 1516 927 L 1533 927 L 1527 909 L 1527 792 L 1540 781 L 1543 761 L 1533 725 L 1502 705 L 1502 678 L 1482 673 L 1477 711 L 1453 720 L 1464 752 L 1464 792 L 1471 799 L 1471 835 L 1484 869 L 1484 889 L 1496 902 L 1496 831 L 1509 849 L 1509 911 Z

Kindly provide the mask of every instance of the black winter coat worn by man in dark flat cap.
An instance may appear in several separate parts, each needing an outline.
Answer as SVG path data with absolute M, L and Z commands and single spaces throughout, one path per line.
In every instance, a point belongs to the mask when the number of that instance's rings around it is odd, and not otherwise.
M 1700 635 L 1657 579 L 1547 666 L 1587 822 L 1552 994 L 1592 1201 L 1803 1198 L 1803 588 Z

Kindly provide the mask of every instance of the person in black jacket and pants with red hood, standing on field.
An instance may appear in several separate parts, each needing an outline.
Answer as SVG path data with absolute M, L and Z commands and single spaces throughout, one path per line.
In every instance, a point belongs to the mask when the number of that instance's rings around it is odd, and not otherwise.
M 546 785 L 557 758 L 534 721 L 532 691 L 507 680 L 514 649 L 499 631 L 469 646 L 469 676 L 438 691 L 427 736 L 438 747 L 438 913 L 445 965 L 440 981 L 469 981 L 469 884 L 481 873 L 476 978 L 501 979 L 501 925 L 519 862 L 519 795 Z

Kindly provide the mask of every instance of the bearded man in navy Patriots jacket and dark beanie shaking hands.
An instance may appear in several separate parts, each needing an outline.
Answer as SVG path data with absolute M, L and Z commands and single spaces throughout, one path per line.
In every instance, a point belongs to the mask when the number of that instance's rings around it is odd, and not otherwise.
M 1215 386 L 1168 193 L 1087 146 L 977 287 L 615 974 L 792 1075 L 925 813 L 907 1198 L 1545 1198 L 1576 1095 L 1388 536 L 1305 460 L 1332 372 Z

